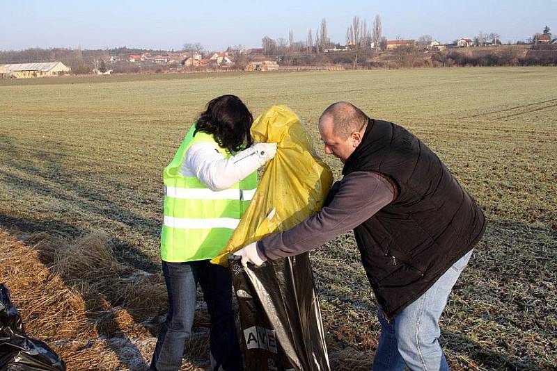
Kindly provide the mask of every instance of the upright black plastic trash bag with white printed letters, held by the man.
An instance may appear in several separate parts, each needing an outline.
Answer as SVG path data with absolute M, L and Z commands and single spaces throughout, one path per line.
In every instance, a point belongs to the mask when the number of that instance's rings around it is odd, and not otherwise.
M 230 256 L 248 371 L 329 371 L 308 254 L 242 267 Z

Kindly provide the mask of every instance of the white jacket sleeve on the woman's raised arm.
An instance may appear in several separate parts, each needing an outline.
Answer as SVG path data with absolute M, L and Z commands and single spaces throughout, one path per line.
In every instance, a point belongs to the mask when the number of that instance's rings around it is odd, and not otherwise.
M 180 173 L 196 176 L 210 190 L 226 190 L 265 165 L 267 158 L 257 146 L 225 158 L 211 143 L 196 143 L 189 147 Z

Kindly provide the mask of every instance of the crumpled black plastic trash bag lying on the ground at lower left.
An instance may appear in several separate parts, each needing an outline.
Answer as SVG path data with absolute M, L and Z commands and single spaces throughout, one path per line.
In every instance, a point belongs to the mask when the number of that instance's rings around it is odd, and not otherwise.
M 22 319 L 3 283 L 0 283 L 0 370 L 65 370 L 64 361 L 46 343 L 26 336 Z

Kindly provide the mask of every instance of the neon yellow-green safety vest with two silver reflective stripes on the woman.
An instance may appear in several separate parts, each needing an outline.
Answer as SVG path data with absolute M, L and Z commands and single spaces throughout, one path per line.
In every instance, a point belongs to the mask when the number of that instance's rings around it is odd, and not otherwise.
M 212 259 L 230 240 L 256 192 L 257 172 L 226 190 L 213 191 L 197 177 L 182 176 L 187 150 L 195 143 L 212 143 L 225 158 L 232 156 L 195 124 L 172 162 L 164 168 L 164 222 L 161 258 L 172 263 Z

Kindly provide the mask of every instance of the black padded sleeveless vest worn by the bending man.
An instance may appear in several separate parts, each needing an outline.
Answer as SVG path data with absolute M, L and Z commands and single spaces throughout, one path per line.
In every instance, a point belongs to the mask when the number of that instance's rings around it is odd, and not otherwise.
M 397 187 L 391 204 L 354 229 L 363 267 L 386 315 L 414 302 L 483 236 L 470 195 L 415 135 L 370 119 L 343 174 L 378 172 Z

